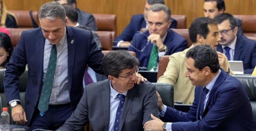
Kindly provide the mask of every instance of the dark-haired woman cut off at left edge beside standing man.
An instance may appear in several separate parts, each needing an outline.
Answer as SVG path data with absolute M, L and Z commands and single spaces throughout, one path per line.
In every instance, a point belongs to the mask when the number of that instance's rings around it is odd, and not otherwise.
M 5 69 L 12 55 L 13 45 L 9 35 L 0 32 L 0 69 Z

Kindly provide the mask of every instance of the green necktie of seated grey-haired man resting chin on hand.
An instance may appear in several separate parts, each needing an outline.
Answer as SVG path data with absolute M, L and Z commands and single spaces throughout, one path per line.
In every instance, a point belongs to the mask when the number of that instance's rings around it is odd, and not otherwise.
M 158 57 L 158 48 L 155 44 L 153 44 L 150 57 L 149 57 L 149 63 L 147 65 L 147 71 L 150 71 L 153 67 L 156 67 L 157 57 Z

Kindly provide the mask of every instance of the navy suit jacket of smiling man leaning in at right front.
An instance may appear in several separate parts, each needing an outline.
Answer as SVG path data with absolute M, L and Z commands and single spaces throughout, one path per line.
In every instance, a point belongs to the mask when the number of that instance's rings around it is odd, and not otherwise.
M 235 77 L 221 70 L 200 119 L 202 86 L 195 87 L 195 99 L 188 113 L 167 107 L 163 121 L 173 131 L 255 131 L 249 97 Z

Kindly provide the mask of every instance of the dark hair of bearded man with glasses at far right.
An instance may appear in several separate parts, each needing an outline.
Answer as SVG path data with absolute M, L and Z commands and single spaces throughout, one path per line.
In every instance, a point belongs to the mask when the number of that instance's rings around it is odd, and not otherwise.
M 237 27 L 237 22 L 235 21 L 235 17 L 230 13 L 221 13 L 216 17 L 214 17 L 214 20 L 216 20 L 218 24 L 221 24 L 223 21 L 228 20 L 230 28 Z

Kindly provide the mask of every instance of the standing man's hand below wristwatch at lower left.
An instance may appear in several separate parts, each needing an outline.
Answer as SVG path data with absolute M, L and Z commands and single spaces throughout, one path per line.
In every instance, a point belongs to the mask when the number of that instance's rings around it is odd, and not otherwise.
M 12 119 L 19 125 L 23 125 L 27 122 L 26 113 L 20 104 L 12 107 Z

